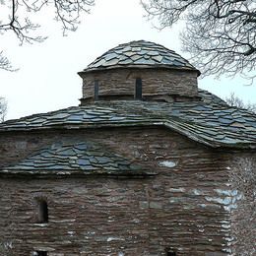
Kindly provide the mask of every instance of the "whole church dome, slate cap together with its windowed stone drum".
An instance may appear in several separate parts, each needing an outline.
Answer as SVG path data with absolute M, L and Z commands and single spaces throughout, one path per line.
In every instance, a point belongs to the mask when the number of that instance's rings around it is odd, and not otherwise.
M 164 46 L 145 40 L 119 44 L 78 73 L 82 104 L 96 100 L 181 101 L 198 97 L 200 72 Z

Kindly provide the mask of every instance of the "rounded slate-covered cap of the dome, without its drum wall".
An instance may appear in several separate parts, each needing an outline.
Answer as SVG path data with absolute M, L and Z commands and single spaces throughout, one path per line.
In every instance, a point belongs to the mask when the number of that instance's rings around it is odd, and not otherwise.
M 119 44 L 96 58 L 84 72 L 114 68 L 170 68 L 196 70 L 173 50 L 145 40 Z M 200 74 L 200 72 L 198 71 Z

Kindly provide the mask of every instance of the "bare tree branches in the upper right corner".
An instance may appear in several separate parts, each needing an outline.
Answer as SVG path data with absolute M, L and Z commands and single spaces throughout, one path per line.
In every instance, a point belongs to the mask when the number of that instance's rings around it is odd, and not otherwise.
M 203 75 L 256 77 L 255 0 L 141 0 L 160 28 L 186 22 L 183 49 Z

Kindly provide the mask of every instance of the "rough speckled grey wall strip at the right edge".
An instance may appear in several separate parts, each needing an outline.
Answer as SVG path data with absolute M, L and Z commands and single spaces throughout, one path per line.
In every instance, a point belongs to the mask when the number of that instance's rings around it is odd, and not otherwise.
M 240 154 L 227 166 L 231 192 L 231 239 L 234 255 L 256 255 L 256 154 Z

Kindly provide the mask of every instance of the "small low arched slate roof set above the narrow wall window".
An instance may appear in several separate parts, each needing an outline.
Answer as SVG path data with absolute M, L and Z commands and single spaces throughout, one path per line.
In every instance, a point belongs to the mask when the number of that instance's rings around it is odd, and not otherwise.
M 29 158 L 0 170 L 12 174 L 57 174 L 61 175 L 129 175 L 146 176 L 154 172 L 113 154 L 93 142 L 62 142 L 41 149 Z

